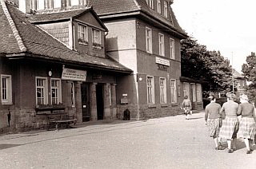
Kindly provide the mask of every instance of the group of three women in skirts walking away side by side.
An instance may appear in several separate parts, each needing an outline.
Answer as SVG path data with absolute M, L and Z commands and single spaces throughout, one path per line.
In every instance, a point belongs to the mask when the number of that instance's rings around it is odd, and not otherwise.
M 240 96 L 240 104 L 234 100 L 234 93 L 226 94 L 227 101 L 221 107 L 216 103 L 215 96 L 210 96 L 210 104 L 206 105 L 205 120 L 210 137 L 213 137 L 216 150 L 222 150 L 222 139 L 228 145 L 228 152 L 234 152 L 237 147 L 238 131 L 242 133 L 242 138 L 246 144 L 246 154 L 250 154 L 253 141 L 255 141 L 255 112 L 254 105 L 249 103 L 248 96 Z M 238 120 L 238 116 L 242 116 Z

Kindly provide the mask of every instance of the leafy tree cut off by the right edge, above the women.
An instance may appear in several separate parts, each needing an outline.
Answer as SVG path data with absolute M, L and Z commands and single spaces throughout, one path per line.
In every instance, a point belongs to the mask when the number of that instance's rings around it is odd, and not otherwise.
M 242 65 L 242 73 L 246 77 L 246 80 L 250 82 L 247 89 L 247 95 L 250 97 L 250 100 L 255 100 L 256 98 L 256 55 L 255 53 L 250 53 L 246 57 L 246 64 Z

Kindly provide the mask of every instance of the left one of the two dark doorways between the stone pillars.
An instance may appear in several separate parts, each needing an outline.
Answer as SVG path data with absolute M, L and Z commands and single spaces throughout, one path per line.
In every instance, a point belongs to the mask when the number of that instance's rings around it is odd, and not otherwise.
M 90 121 L 90 84 L 82 83 L 82 121 Z

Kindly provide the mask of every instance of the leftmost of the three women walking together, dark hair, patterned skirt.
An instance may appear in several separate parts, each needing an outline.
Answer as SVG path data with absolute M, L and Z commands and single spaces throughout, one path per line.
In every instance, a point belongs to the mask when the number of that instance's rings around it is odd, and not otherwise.
M 208 97 L 210 104 L 206 105 L 205 120 L 208 127 L 209 136 L 213 137 L 215 143 L 215 150 L 222 150 L 222 143 L 220 141 L 219 131 L 222 124 L 220 114 L 221 105 L 216 102 L 215 96 Z

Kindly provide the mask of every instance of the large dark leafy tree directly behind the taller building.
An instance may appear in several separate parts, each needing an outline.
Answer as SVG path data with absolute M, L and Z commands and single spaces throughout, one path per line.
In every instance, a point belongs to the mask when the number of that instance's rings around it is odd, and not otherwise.
M 218 51 L 208 51 L 191 37 L 182 40 L 182 76 L 207 82 L 203 90 L 229 91 L 232 85 L 230 61 Z

